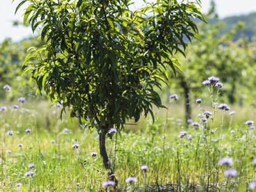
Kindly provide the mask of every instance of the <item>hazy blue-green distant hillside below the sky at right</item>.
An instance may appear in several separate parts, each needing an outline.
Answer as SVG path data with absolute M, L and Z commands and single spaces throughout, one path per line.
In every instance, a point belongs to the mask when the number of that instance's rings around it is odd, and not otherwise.
M 221 30 L 221 33 L 225 33 L 230 31 L 230 29 L 234 28 L 234 25 L 237 22 L 242 21 L 245 23 L 243 31 L 237 34 L 235 40 L 239 38 L 242 34 L 248 37 L 248 40 L 252 41 L 252 36 L 256 33 L 256 13 L 250 13 L 249 15 L 239 15 L 239 16 L 232 16 L 232 17 L 225 17 L 224 19 L 211 19 L 207 20 L 209 24 L 214 24 L 218 21 L 222 21 L 225 23 L 226 28 Z

